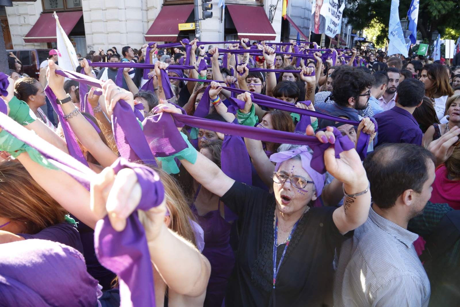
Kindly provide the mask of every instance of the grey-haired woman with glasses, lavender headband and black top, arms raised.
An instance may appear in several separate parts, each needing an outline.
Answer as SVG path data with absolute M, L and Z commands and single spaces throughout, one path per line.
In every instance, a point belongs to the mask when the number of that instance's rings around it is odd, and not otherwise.
M 180 112 L 171 104 L 160 105 L 158 112 L 163 111 Z M 316 137 L 334 144 L 331 131 L 329 127 Z M 311 126 L 306 132 L 314 134 Z M 239 216 L 240 244 L 226 306 L 332 306 L 335 248 L 364 223 L 370 206 L 369 183 L 357 152 L 352 148 L 339 156 L 332 146 L 324 163 L 343 183 L 342 207 L 313 207 L 325 178 L 311 168 L 312 155 L 305 146 L 270 157 L 276 162 L 274 194 L 236 182 L 201 153 L 193 164 L 180 160 L 203 188 Z

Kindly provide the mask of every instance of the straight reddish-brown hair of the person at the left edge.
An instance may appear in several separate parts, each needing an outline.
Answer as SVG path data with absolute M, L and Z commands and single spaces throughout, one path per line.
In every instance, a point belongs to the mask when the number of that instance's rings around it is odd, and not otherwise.
M 0 162 L 0 204 L 0 216 L 24 223 L 28 234 L 62 223 L 68 214 L 17 161 Z

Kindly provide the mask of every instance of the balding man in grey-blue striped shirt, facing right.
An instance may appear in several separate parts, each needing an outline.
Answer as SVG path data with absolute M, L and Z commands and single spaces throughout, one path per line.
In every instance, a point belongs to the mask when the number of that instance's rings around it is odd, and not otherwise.
M 368 155 L 364 168 L 374 202 L 338 253 L 335 306 L 428 306 L 430 282 L 413 245 L 418 235 L 407 225 L 431 197 L 434 162 L 427 149 L 405 143 L 384 144 Z

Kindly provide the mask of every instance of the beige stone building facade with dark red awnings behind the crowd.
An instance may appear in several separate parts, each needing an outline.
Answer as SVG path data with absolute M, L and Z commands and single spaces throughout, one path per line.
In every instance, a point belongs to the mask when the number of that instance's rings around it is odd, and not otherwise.
M 311 0 L 305 1 L 305 3 L 311 2 Z M 227 0 L 225 2 L 227 7 L 224 10 L 219 7 L 218 0 L 213 0 L 211 3 L 213 17 L 200 22 L 201 41 L 238 39 L 238 33 L 241 31 L 229 28 L 233 24 L 229 20 L 231 19 L 229 6 L 231 8 L 232 5 L 240 9 L 241 5 L 259 7 L 259 15 L 265 13 L 265 16 L 259 16 L 260 18 L 267 20 L 272 18 L 270 31 L 272 34 L 276 33 L 276 37 L 273 34 L 271 36 L 273 39 L 270 41 L 281 40 L 283 21 L 281 0 L 278 3 L 276 0 Z M 119 53 L 123 46 L 140 48 L 148 42 L 145 35 L 159 16 L 162 7 L 192 4 L 193 1 L 190 0 L 37 0 L 36 2 L 13 2 L 13 6 L 6 7 L 6 18 L 14 49 L 51 48 L 55 46 L 53 42 L 53 36 L 56 36 L 55 23 L 44 24 L 42 19 L 45 18 L 41 15 L 49 14 L 46 16 L 48 16 L 47 20 L 50 20 L 53 11 L 56 11 L 58 16 L 64 12 L 72 12 L 72 18 L 75 19 L 73 23 L 64 17 L 59 20 L 63 28 L 66 23 L 70 23 L 68 27 L 73 27 L 69 30 L 68 36 L 74 43 L 77 53 L 84 56 L 90 50 L 99 48 L 107 50 L 115 46 Z M 201 0 L 199 15 L 201 18 Z M 243 17 L 249 20 L 254 18 Z M 193 11 L 190 18 L 193 19 Z M 193 36 L 193 31 L 189 34 L 190 37 Z M 147 37 L 147 39 L 154 41 L 153 38 Z

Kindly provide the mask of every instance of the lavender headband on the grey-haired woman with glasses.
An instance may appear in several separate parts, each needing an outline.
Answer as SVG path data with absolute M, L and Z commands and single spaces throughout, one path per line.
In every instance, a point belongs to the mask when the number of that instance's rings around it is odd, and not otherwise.
M 311 177 L 311 180 L 315 184 L 316 188 L 316 196 L 320 196 L 322 193 L 322 188 L 324 187 L 324 181 L 326 180 L 326 176 L 324 174 L 320 174 L 311 168 L 311 160 L 313 156 L 308 151 L 308 147 L 302 146 L 299 148 L 295 148 L 288 151 L 283 151 L 281 153 L 273 153 L 270 156 L 270 161 L 276 162 L 275 171 L 278 171 L 282 162 L 292 159 L 293 157 L 300 155 L 300 159 L 302 161 L 302 168 L 308 173 Z

